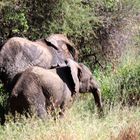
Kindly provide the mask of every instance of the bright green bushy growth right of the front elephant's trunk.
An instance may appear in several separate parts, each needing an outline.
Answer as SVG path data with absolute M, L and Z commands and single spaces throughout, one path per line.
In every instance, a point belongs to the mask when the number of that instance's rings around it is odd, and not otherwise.
M 129 53 L 127 52 L 126 56 L 123 56 L 120 66 L 114 72 L 109 69 L 106 72 L 98 73 L 105 102 L 119 101 L 129 105 L 140 103 L 139 50 L 133 55 L 132 52 L 129 50 Z

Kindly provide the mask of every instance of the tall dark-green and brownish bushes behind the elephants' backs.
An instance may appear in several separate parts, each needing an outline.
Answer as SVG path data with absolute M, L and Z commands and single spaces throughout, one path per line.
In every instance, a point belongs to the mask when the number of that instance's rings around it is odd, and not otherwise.
M 106 67 L 106 62 L 117 62 L 122 55 L 122 48 L 133 36 L 132 25 L 127 26 L 136 24 L 134 19 L 139 14 L 140 2 L 2 0 L 0 6 L 1 42 L 12 36 L 34 40 L 64 33 L 79 50 L 79 61 L 94 69 L 95 66 Z

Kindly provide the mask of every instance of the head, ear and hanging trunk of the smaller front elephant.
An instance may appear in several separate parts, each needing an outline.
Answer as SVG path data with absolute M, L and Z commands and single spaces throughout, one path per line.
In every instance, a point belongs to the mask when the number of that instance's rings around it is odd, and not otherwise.
M 73 75 L 75 91 L 80 93 L 91 92 L 94 96 L 95 104 L 98 107 L 99 113 L 103 115 L 100 88 L 89 68 L 83 63 L 78 64 L 71 59 L 68 59 L 67 62 L 68 66 L 71 68 L 71 73 Z

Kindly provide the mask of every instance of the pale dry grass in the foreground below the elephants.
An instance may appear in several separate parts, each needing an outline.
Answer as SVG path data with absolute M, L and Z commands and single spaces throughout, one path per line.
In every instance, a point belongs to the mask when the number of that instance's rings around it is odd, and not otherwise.
M 81 101 L 82 102 L 82 101 Z M 106 115 L 99 119 L 96 113 L 75 103 L 62 119 L 54 121 L 23 119 L 16 123 L 7 122 L 0 128 L 2 140 L 139 140 L 140 108 L 112 109 L 106 107 Z M 81 108 L 80 108 L 81 106 Z

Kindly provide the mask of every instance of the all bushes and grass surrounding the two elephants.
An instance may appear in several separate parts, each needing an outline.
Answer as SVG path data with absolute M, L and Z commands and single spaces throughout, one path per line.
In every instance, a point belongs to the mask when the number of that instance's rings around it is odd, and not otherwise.
M 6 116 L 0 139 L 139 140 L 140 1 L 1 0 L 0 45 L 12 36 L 35 40 L 64 33 L 100 84 L 104 117 L 92 95 L 79 95 L 62 119 Z M 8 94 L 0 85 L 0 116 Z

